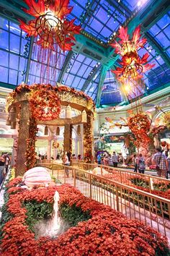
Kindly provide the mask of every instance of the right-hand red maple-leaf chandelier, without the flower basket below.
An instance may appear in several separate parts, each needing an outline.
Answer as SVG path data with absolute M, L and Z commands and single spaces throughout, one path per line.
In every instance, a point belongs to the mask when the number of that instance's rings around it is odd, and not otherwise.
M 146 38 L 141 38 L 140 26 L 135 28 L 131 39 L 128 35 L 128 27 L 120 27 L 118 38 L 120 38 L 119 42 L 115 41 L 110 45 L 115 48 L 116 54 L 122 56 L 120 62 L 122 67 L 117 67 L 112 72 L 116 74 L 120 82 L 142 78 L 143 72 L 151 69 L 155 64 L 147 63 L 148 53 L 144 54 L 142 58 L 138 55 L 139 48 L 143 48 L 146 43 Z

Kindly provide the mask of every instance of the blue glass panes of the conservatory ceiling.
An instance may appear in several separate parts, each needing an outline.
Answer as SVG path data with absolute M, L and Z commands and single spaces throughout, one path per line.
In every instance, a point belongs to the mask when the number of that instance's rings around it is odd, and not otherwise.
M 68 19 L 76 18 L 75 24 L 81 25 L 89 35 L 97 38 L 107 47 L 107 41 L 119 29 L 120 25 L 128 20 L 135 10 L 142 7 L 138 0 L 71 0 L 73 11 Z M 145 0 L 146 2 L 146 0 Z M 149 35 L 148 43 L 140 48 L 139 54 L 143 56 L 148 52 L 149 62 L 155 67 L 143 74 L 143 82 L 150 93 L 170 82 L 170 69 L 166 59 L 170 57 L 170 12 L 151 26 L 146 32 Z M 19 85 L 21 82 L 32 84 L 40 82 L 42 74 L 37 61 L 37 51 L 32 40 L 20 30 L 19 25 L 0 16 L 0 82 L 10 85 Z M 33 51 L 30 53 L 30 48 Z M 53 53 L 55 54 L 55 52 Z M 115 75 L 108 69 L 102 85 L 99 85 L 102 63 L 85 56 L 82 52 L 73 51 L 71 58 L 66 62 L 68 52 L 62 53 L 60 66 L 55 67 L 56 76 L 50 78 L 50 83 L 59 82 L 76 90 L 84 90 L 94 101 L 97 100 L 98 88 L 102 88 L 101 106 L 116 105 L 126 101 Z M 47 63 L 42 63 L 47 67 Z M 50 64 L 53 67 L 53 63 Z M 115 63 L 118 65 L 118 61 Z M 64 71 L 63 71 L 64 70 Z M 134 95 L 131 95 L 134 98 Z

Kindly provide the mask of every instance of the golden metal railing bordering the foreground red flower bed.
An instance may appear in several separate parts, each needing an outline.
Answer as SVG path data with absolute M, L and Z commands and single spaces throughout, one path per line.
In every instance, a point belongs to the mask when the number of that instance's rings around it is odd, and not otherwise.
M 63 183 L 73 185 L 86 197 L 109 205 L 128 218 L 143 221 L 161 234 L 169 236 L 170 200 L 77 167 L 53 164 L 41 166 L 50 168 L 53 176 Z

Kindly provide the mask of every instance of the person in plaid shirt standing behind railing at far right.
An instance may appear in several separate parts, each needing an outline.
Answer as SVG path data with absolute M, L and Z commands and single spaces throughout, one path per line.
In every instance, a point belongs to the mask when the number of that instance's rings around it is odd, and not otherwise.
M 166 155 L 161 153 L 161 148 L 156 148 L 156 153 L 153 155 L 153 163 L 156 164 L 158 176 L 166 178 L 166 172 L 169 166 Z

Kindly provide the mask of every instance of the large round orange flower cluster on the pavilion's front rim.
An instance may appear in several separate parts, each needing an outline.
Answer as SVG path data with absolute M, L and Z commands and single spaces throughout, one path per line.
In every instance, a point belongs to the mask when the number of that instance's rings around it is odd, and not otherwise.
M 61 101 L 51 85 L 37 85 L 29 96 L 32 116 L 40 121 L 57 119 L 61 113 Z

